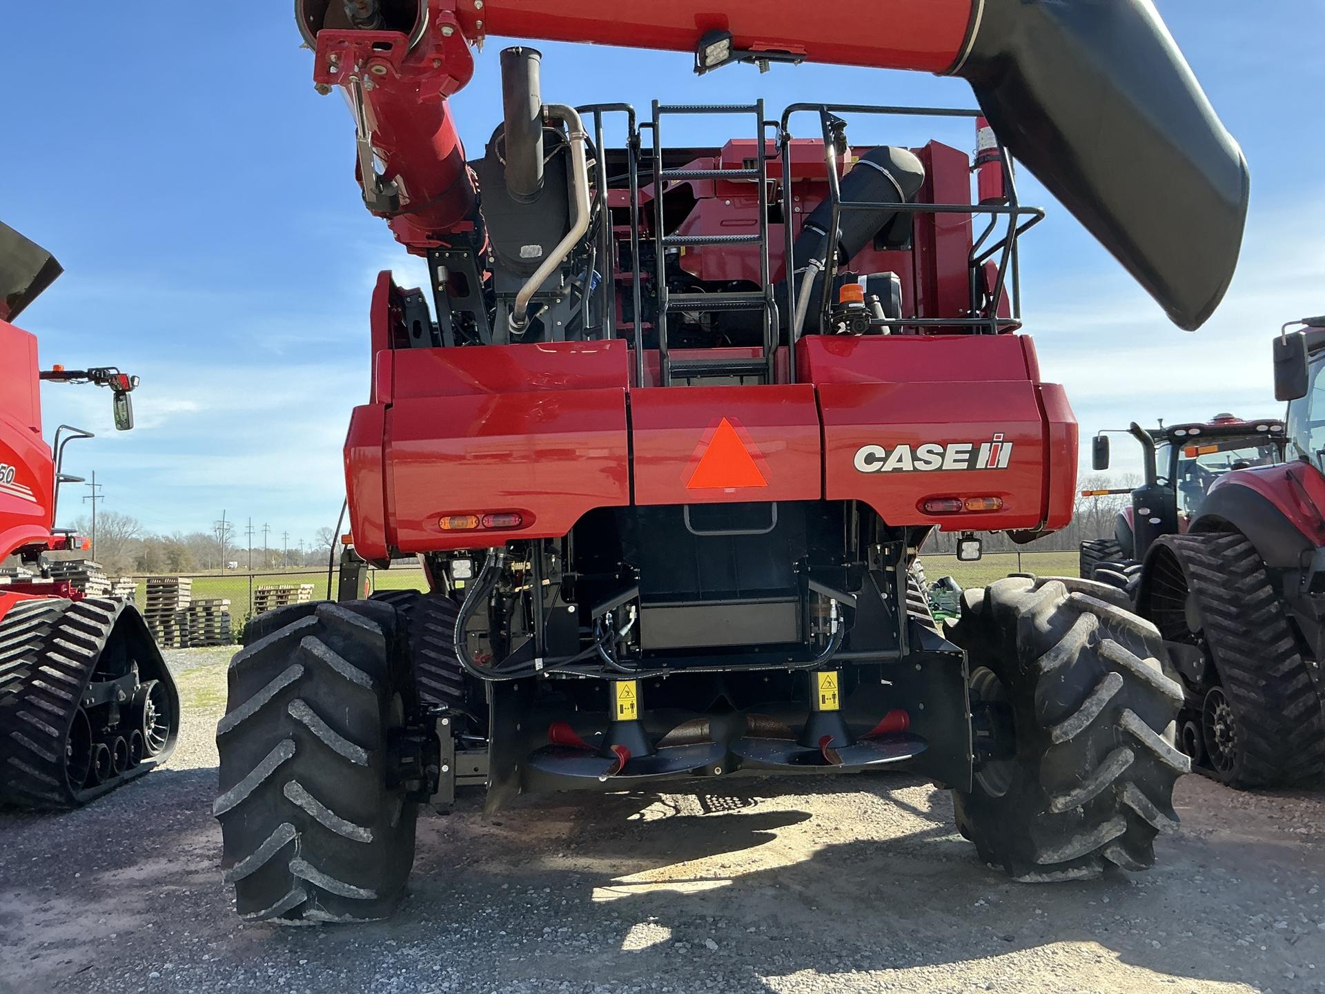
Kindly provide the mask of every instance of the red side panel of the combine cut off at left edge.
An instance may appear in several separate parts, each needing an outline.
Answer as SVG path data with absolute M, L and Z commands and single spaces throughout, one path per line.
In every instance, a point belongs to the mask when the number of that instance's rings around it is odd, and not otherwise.
M 41 437 L 37 339 L 0 321 L 0 559 L 48 547 L 56 467 Z

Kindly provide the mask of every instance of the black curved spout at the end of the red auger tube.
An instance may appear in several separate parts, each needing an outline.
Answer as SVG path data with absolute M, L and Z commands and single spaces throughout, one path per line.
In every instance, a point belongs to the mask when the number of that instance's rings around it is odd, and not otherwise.
M 965 58 L 1012 155 L 1189 331 L 1238 266 L 1249 178 L 1150 0 L 982 0 Z

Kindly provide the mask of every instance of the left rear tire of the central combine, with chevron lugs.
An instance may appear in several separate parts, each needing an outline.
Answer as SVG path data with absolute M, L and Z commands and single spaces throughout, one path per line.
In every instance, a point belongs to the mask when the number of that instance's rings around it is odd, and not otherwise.
M 221 868 L 248 920 L 372 921 L 413 864 L 391 742 L 412 702 L 390 604 L 314 606 L 241 651 L 216 728 Z

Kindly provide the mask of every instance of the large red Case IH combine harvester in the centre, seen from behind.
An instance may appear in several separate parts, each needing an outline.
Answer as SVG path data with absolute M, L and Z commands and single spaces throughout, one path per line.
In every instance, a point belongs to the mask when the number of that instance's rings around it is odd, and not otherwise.
M 1035 881 L 1147 867 L 1174 823 L 1182 688 L 1116 590 L 1006 579 L 966 594 L 949 641 L 908 578 L 935 527 L 974 557 L 975 533 L 1072 514 L 1076 423 L 1016 334 L 1016 237 L 1041 212 L 1012 156 L 1195 327 L 1236 262 L 1238 146 L 1143 0 L 706 9 L 297 7 L 366 204 L 429 266 L 427 289 L 378 284 L 346 478 L 358 554 L 419 557 L 431 588 L 273 612 L 236 657 L 215 812 L 241 914 L 390 913 L 417 804 L 476 781 L 496 808 L 908 770 Z M 545 105 L 514 48 L 505 121 L 466 162 L 447 97 L 489 33 L 693 52 L 700 73 L 954 73 L 980 110 L 640 119 Z M 908 114 L 975 125 L 977 196 L 957 148 L 848 137 Z M 745 133 L 668 144 L 696 115 Z

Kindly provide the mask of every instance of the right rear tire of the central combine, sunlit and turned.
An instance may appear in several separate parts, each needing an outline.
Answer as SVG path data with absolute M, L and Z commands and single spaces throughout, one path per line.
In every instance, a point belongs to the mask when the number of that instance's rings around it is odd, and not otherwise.
M 986 863 L 1028 883 L 1154 864 L 1177 827 L 1174 746 L 1182 688 L 1157 661 L 1153 626 L 1077 579 L 1011 577 L 962 595 L 950 628 L 967 652 L 973 704 L 1004 705 L 1015 754 L 954 791 L 957 822 Z M 1112 600 L 1112 603 L 1110 603 Z

